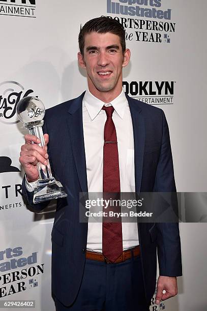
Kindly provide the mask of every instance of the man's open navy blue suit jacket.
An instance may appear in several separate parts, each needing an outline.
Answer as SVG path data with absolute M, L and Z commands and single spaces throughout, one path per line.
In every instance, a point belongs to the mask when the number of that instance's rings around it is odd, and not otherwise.
M 82 99 L 46 110 L 44 132 L 53 176 L 68 194 L 57 200 L 52 229 L 52 292 L 70 305 L 77 296 L 85 264 L 87 223 L 79 222 L 79 192 L 87 192 L 82 125 Z M 126 95 L 127 96 L 127 95 Z M 133 133 L 135 189 L 140 192 L 175 192 L 169 131 L 164 112 L 127 96 Z M 23 181 L 23 193 L 32 204 Z M 33 207 L 41 211 L 47 202 Z M 160 275 L 182 275 L 178 223 L 138 223 L 141 262 L 147 301 L 156 286 L 157 253 Z

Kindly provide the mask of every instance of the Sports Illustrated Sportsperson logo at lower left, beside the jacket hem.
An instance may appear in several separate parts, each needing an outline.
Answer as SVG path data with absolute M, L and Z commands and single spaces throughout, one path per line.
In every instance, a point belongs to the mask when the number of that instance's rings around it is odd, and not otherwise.
M 0 251 L 0 298 L 37 287 L 38 275 L 43 273 L 37 252 L 25 257 L 21 246 Z

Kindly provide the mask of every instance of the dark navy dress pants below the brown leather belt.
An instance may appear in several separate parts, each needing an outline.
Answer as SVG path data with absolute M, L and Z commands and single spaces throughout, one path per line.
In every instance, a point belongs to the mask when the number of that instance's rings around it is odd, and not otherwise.
M 55 299 L 55 305 L 56 311 L 149 311 L 140 256 L 116 264 L 86 259 L 74 303 L 67 307 Z

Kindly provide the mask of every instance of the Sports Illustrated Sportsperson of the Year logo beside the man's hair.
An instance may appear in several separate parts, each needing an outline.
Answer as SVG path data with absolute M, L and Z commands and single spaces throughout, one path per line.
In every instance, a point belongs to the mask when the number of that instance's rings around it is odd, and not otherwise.
M 175 23 L 170 22 L 172 10 L 161 6 L 162 0 L 106 0 L 107 17 L 124 26 L 126 40 L 137 42 L 170 43 L 175 32 Z

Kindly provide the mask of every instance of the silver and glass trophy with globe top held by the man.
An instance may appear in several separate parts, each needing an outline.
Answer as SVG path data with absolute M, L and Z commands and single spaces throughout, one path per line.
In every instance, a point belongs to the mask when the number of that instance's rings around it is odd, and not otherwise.
M 18 102 L 16 112 L 25 129 L 29 130 L 29 134 L 37 136 L 41 141 L 39 146 L 44 148 L 45 140 L 42 126 L 45 107 L 41 100 L 32 96 L 24 97 Z M 61 182 L 52 176 L 49 161 L 47 165 L 38 162 L 37 168 L 40 179 L 34 191 L 33 203 L 67 196 Z

